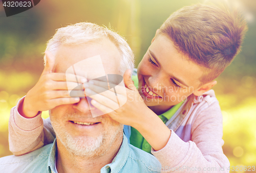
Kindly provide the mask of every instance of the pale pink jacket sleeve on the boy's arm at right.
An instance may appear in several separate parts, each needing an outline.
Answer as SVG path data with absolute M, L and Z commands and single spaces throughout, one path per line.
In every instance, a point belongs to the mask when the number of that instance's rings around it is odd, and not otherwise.
M 223 154 L 222 114 L 216 101 L 199 112 L 191 124 L 191 141 L 184 142 L 173 130 L 167 144 L 152 154 L 162 165 L 161 172 L 229 172 Z

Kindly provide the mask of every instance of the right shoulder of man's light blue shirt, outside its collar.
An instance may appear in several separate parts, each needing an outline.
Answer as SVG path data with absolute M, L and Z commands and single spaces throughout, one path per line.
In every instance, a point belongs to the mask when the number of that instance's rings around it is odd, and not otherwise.
M 134 172 L 160 172 L 161 164 L 155 156 L 129 144 L 127 162 Z

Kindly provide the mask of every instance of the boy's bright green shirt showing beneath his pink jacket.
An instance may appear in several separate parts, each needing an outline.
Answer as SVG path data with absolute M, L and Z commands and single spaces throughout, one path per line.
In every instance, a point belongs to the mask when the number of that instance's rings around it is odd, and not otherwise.
M 134 81 L 135 87 L 138 89 L 139 81 L 138 76 L 133 75 L 132 79 Z M 163 113 L 162 115 L 159 115 L 158 117 L 166 123 L 172 116 L 177 112 L 177 110 L 182 105 L 183 101 L 174 105 L 171 109 Z M 137 148 L 140 148 L 144 150 L 147 153 L 151 153 L 151 145 L 144 139 L 144 137 L 137 131 L 137 129 L 131 127 L 131 137 L 130 137 L 130 143 Z

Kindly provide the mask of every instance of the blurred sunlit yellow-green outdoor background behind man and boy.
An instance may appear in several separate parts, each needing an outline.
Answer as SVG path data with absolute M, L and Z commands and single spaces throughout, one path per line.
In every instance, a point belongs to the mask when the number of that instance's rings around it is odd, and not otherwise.
M 11 155 L 10 109 L 39 79 L 44 68 L 42 52 L 55 29 L 80 21 L 111 25 L 129 42 L 137 66 L 163 21 L 183 6 L 196 3 L 208 1 L 41 1 L 10 17 L 5 16 L 0 3 L 0 157 Z M 223 113 L 223 150 L 233 166 L 256 166 L 256 1 L 229 3 L 243 12 L 249 30 L 242 52 L 217 78 L 214 87 Z

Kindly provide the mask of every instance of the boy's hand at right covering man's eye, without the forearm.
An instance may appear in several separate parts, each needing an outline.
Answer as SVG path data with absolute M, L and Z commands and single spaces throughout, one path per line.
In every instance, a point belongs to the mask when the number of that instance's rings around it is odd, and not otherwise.
M 103 113 L 118 121 L 119 123 L 130 125 L 136 128 L 149 114 L 155 114 L 144 103 L 143 98 L 140 96 L 136 89 L 134 82 L 131 78 L 131 70 L 126 70 L 123 75 L 125 84 L 125 91 L 116 89 L 119 102 L 127 101 L 121 107 L 118 106 L 116 95 L 113 88 L 109 90 L 108 83 L 103 81 L 91 80 L 89 83 L 84 83 L 84 92 L 93 100 L 92 105 Z M 116 85 L 115 87 L 122 87 Z M 105 92 L 102 92 L 105 91 Z M 119 107 L 116 109 L 116 107 Z

